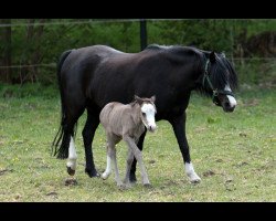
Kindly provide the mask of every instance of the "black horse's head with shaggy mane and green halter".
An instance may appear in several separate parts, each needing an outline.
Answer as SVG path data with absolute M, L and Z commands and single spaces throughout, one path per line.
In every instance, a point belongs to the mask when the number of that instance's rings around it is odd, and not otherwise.
M 237 86 L 237 76 L 224 53 L 209 53 L 202 85 L 209 94 L 212 94 L 213 103 L 222 106 L 224 112 L 235 109 L 236 99 L 232 91 Z

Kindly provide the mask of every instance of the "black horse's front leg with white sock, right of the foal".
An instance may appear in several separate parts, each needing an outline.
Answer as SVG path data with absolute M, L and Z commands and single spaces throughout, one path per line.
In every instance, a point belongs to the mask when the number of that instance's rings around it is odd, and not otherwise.
M 193 165 L 191 162 L 189 145 L 185 137 L 185 113 L 169 119 L 169 122 L 172 125 L 174 135 L 177 137 L 178 145 L 185 165 L 185 173 L 189 177 L 189 180 L 191 182 L 200 182 L 201 179 L 194 171 Z

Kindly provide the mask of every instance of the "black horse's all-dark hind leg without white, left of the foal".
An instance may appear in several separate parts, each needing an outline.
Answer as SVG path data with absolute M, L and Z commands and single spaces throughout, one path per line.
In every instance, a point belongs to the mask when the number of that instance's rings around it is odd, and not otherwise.
M 84 150 L 86 158 L 85 172 L 89 177 L 98 177 L 98 172 L 94 165 L 92 143 L 95 136 L 95 131 L 98 127 L 99 118 L 97 112 L 92 112 L 87 108 L 87 119 L 83 129 L 83 139 L 84 139 Z

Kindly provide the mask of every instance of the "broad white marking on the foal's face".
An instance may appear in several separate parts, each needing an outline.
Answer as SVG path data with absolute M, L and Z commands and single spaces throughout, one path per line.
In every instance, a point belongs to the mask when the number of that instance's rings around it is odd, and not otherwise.
M 146 120 L 142 117 L 142 123 L 144 125 L 147 127 L 147 129 L 155 131 L 157 128 L 156 125 L 156 108 L 152 104 L 144 104 L 141 106 L 141 113 L 144 115 L 144 117 L 146 118 Z

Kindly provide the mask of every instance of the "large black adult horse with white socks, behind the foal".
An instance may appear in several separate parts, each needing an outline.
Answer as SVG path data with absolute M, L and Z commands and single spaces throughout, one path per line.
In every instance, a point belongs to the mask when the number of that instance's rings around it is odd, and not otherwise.
M 85 172 L 98 176 L 95 169 L 92 143 L 99 124 L 99 112 L 109 102 L 130 103 L 134 95 L 156 95 L 156 119 L 168 120 L 173 128 L 185 172 L 192 182 L 195 173 L 185 137 L 185 109 L 192 91 L 212 96 L 224 112 L 233 112 L 236 101 L 232 93 L 237 76 L 222 53 L 189 46 L 149 45 L 139 53 L 124 53 L 105 45 L 70 50 L 61 55 L 57 65 L 61 92 L 62 120 L 53 141 L 54 155 L 68 158 L 67 171 L 74 175 L 76 151 L 74 136 L 78 117 L 87 110 L 83 129 L 86 157 Z M 142 149 L 146 133 L 138 147 Z M 136 160 L 130 180 L 136 181 Z

